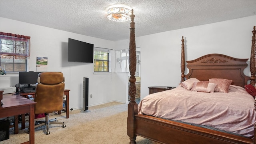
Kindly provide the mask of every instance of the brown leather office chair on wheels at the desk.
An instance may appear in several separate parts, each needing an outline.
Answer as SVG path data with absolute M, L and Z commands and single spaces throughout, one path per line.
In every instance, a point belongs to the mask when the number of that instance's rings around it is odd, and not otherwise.
M 62 124 L 62 128 L 66 127 L 64 122 L 58 122 L 56 118 L 49 120 L 49 113 L 63 109 L 64 88 L 64 76 L 61 72 L 42 72 L 38 74 L 34 96 L 36 102 L 35 114 L 44 113 L 45 121 L 36 121 L 35 128 L 46 125 L 46 134 L 50 134 L 50 124 Z

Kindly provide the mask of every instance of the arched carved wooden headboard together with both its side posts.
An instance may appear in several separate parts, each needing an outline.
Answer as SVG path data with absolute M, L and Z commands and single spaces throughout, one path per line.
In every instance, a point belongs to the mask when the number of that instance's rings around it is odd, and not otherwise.
M 240 59 L 226 56 L 223 54 L 207 54 L 195 60 L 186 61 L 188 74 L 185 72 L 185 54 L 184 54 L 184 39 L 182 36 L 182 54 L 181 54 L 181 82 L 188 78 L 197 78 L 198 80 L 209 80 L 210 78 L 225 78 L 233 80 L 231 84 L 242 86 L 248 84 L 255 85 L 256 81 L 256 46 L 255 46 L 255 26 L 252 31 L 252 48 L 250 56 L 250 72 L 251 76 L 244 74 L 244 69 L 248 66 L 246 63 L 248 58 Z

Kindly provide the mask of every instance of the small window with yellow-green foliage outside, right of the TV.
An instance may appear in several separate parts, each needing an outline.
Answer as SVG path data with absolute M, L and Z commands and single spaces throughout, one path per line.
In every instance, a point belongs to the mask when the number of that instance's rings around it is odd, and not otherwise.
M 109 72 L 110 50 L 94 47 L 94 72 Z

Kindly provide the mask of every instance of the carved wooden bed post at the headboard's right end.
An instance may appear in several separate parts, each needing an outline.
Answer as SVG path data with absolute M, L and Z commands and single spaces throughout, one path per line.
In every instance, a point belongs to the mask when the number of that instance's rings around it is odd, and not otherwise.
M 251 82 L 250 82 L 250 84 L 252 84 L 253 86 L 255 86 L 255 83 L 256 83 L 256 76 L 255 76 L 255 74 L 256 74 L 256 65 L 255 65 L 255 60 L 256 60 L 256 58 L 255 58 L 255 52 L 256 52 L 256 50 L 255 50 L 255 32 L 256 32 L 256 30 L 255 30 L 255 26 L 253 27 L 253 30 L 252 30 L 252 48 L 251 48 L 251 58 L 250 58 L 250 71 L 251 71 L 251 77 L 250 77 L 250 80 L 251 80 Z

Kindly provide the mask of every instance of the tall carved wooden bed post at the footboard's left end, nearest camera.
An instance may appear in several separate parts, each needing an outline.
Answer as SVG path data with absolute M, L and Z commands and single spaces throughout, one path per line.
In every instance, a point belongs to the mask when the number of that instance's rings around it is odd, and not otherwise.
M 134 124 L 134 115 L 138 114 L 138 104 L 135 102 L 135 95 L 136 95 L 136 44 L 135 44 L 135 22 L 134 22 L 135 15 L 130 15 L 131 21 L 130 22 L 130 46 L 129 46 L 129 69 L 130 69 L 130 86 L 129 86 L 129 96 L 130 102 L 128 104 L 128 118 L 127 118 L 127 135 L 130 137 L 130 144 L 136 144 L 136 134 L 135 128 L 136 125 Z

